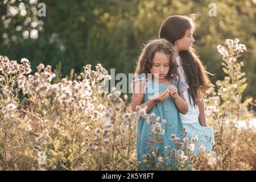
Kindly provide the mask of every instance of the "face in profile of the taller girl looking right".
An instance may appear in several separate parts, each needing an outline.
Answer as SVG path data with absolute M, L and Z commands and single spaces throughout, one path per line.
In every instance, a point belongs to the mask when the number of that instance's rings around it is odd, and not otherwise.
M 195 42 L 195 39 L 193 38 L 193 32 L 190 28 L 186 30 L 183 38 L 176 41 L 174 46 L 176 46 L 179 51 L 187 51 L 192 46 L 193 42 Z

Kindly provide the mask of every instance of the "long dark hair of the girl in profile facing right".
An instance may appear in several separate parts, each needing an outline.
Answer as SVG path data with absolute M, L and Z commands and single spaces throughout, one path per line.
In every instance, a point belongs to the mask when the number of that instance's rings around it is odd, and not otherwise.
M 159 38 L 166 39 L 174 45 L 176 40 L 185 36 L 185 31 L 188 29 L 191 28 L 195 32 L 195 18 L 196 15 L 168 17 L 160 27 Z M 195 49 L 189 48 L 188 51 L 180 51 L 179 55 L 189 85 L 188 93 L 195 106 L 196 102 L 201 102 L 201 99 L 207 96 L 207 89 L 213 86 L 209 80 L 209 75 L 212 74 L 207 72 Z M 189 101 L 191 102 L 190 98 Z

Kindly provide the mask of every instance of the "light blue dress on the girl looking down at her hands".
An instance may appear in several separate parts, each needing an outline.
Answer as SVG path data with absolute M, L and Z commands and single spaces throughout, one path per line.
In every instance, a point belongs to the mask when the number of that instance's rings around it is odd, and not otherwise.
M 132 85 L 133 89 L 135 85 L 134 82 L 141 80 L 145 81 L 146 78 L 139 77 L 137 80 L 134 80 Z M 178 87 L 175 80 L 171 85 L 176 86 L 177 90 L 181 93 L 188 89 L 188 85 L 181 81 Z M 145 87 L 143 103 L 147 102 L 152 96 L 154 96 L 154 94 L 166 90 L 168 85 L 146 80 Z M 167 98 L 167 100 L 158 102 L 150 111 L 148 111 L 147 114 L 151 113 L 155 114 L 155 119 L 160 117 L 159 122 L 162 125 L 162 129 L 164 129 L 164 134 L 160 135 L 157 151 L 159 151 L 162 156 L 166 156 L 169 153 L 168 146 L 171 146 L 171 151 L 173 149 L 177 150 L 174 142 L 170 139 L 170 135 L 175 134 L 176 137 L 179 137 L 180 133 L 183 132 L 183 123 L 180 118 L 180 113 L 176 108 L 174 100 L 170 96 Z M 166 123 L 162 123 L 162 119 L 165 119 Z M 141 169 L 146 169 L 146 163 L 143 162 L 145 160 L 145 155 L 152 155 L 152 150 L 155 147 L 155 138 L 150 135 L 151 130 L 152 125 L 147 123 L 147 119 L 140 117 L 137 122 L 137 160 Z M 170 158 L 167 159 L 167 162 L 164 162 L 164 164 L 169 163 L 171 163 Z

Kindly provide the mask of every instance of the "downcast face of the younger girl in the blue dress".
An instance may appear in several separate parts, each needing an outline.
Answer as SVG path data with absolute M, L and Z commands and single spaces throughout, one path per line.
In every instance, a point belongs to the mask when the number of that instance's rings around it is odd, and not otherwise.
M 154 78 L 163 79 L 170 69 L 170 57 L 163 52 L 155 52 L 150 72 Z

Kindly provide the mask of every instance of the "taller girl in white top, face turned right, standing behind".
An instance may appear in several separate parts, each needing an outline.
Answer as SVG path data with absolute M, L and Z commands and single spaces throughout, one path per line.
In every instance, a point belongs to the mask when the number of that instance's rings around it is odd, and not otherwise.
M 188 113 L 181 114 L 181 119 L 188 132 L 188 138 L 197 137 L 195 154 L 200 154 L 204 150 L 211 151 L 214 144 L 213 129 L 207 125 L 203 100 L 207 95 L 207 89 L 212 85 L 208 77 L 209 73 L 192 48 L 195 42 L 194 18 L 193 15 L 168 17 L 160 27 L 159 38 L 172 43 L 175 60 L 179 65 L 180 80 L 189 85 L 189 89 L 183 93 L 188 103 Z

